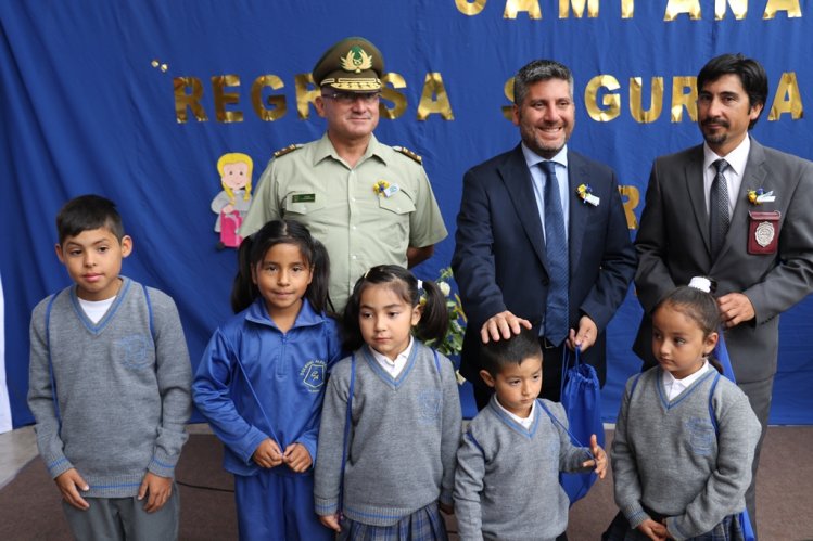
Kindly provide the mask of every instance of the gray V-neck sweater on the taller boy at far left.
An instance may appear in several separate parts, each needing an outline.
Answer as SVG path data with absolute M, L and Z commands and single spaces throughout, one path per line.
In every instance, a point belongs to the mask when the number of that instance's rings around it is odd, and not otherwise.
M 51 297 L 31 314 L 28 407 L 39 453 L 51 477 L 75 467 L 90 485 L 86 497 L 136 495 L 148 471 L 173 477 L 187 440 L 187 343 L 173 299 L 148 289 L 123 278 L 97 323 L 75 286 L 55 295 L 48 333 Z

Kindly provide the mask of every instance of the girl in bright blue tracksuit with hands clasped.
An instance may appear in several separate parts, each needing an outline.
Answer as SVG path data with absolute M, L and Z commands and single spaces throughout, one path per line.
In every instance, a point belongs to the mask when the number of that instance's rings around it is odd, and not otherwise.
M 314 513 L 313 463 L 325 381 L 342 357 L 326 315 L 325 247 L 292 220 L 243 240 L 231 305 L 193 384 L 194 402 L 226 445 L 240 539 L 332 539 Z

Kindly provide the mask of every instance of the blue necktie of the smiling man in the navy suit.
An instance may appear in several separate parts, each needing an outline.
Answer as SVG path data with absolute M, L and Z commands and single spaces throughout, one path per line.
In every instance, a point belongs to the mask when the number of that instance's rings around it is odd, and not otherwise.
M 545 307 L 545 337 L 555 345 L 568 336 L 568 237 L 559 197 L 559 182 L 552 162 L 539 164 L 545 173 L 545 256 L 548 260 L 548 301 Z

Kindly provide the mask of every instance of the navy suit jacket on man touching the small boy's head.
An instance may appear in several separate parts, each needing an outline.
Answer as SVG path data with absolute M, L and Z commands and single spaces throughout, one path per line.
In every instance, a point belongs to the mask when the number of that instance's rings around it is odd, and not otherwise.
M 635 250 L 615 173 L 568 151 L 568 176 L 570 326 L 577 329 L 583 314 L 596 322 L 599 336 L 584 360 L 596 366 L 604 384 L 604 331 L 626 295 Z M 535 329 L 544 323 L 549 279 L 532 182 L 520 145 L 463 177 L 452 267 L 468 317 L 460 372 L 469 381 L 480 377 L 480 329 L 488 318 L 510 310 Z M 576 196 L 582 183 L 600 198 L 598 206 Z

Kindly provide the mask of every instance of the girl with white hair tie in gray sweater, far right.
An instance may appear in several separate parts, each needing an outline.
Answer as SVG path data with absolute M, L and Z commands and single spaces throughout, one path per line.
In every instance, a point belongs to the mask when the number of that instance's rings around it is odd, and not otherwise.
M 605 540 L 742 539 L 737 514 L 761 428 L 745 394 L 710 364 L 717 310 L 688 286 L 655 309 L 659 365 L 626 384 L 612 442 L 621 512 Z

